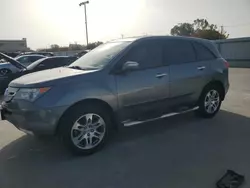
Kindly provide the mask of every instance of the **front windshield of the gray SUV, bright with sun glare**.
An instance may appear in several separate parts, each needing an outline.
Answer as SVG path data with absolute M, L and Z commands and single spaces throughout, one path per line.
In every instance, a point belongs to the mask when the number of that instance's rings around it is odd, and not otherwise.
M 130 42 L 127 41 L 109 42 L 103 44 L 76 60 L 69 67 L 80 67 L 81 69 L 101 69 L 129 44 Z

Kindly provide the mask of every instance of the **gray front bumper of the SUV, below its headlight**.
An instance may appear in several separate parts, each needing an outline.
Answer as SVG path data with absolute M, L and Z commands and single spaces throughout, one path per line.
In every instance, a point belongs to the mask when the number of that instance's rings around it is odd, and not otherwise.
M 26 133 L 55 134 L 57 124 L 66 107 L 42 109 L 27 101 L 3 102 L 2 120 L 7 120 Z

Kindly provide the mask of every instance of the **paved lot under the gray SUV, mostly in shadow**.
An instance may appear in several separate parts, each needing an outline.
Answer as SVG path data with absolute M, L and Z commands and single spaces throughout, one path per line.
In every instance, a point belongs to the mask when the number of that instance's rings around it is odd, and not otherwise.
M 0 121 L 0 188 L 214 188 L 227 169 L 250 187 L 249 81 L 250 69 L 230 69 L 213 119 L 190 112 L 132 126 L 87 157 Z

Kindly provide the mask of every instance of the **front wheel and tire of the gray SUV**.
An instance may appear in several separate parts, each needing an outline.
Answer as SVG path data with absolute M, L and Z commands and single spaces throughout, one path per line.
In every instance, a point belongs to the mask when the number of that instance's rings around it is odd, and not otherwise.
M 109 111 L 102 106 L 77 105 L 63 117 L 59 134 L 73 154 L 89 155 L 105 145 L 111 123 Z

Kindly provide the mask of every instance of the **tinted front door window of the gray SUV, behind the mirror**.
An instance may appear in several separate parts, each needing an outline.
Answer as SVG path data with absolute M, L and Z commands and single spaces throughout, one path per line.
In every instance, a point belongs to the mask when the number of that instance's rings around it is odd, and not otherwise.
M 132 47 L 123 62 L 126 61 L 139 63 L 140 69 L 162 66 L 162 45 L 157 41 L 141 42 Z

